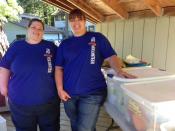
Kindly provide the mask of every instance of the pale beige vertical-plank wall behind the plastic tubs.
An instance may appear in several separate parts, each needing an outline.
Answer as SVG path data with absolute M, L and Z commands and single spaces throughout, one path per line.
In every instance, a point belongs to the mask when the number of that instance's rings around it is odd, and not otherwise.
M 175 72 L 175 17 L 115 20 L 96 25 L 121 58 L 132 54 L 153 67 Z

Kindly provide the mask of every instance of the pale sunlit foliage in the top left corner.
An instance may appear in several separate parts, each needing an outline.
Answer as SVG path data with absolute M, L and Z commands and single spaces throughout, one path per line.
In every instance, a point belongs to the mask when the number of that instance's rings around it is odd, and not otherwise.
M 16 0 L 0 0 L 0 21 L 2 23 L 20 20 L 23 9 Z

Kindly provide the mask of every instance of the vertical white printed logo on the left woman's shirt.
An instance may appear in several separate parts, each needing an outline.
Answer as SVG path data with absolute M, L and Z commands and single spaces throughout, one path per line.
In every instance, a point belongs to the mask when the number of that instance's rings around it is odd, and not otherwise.
M 51 73 L 52 72 L 52 54 L 50 52 L 50 49 L 49 48 L 46 48 L 46 53 L 44 54 L 44 56 L 46 56 L 46 59 L 47 59 L 47 64 L 48 64 L 48 73 Z

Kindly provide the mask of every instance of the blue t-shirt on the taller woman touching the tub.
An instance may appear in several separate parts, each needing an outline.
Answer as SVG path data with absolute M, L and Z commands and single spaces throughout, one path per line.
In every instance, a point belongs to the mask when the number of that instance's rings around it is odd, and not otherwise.
M 78 96 L 106 89 L 101 65 L 112 55 L 116 53 L 101 33 L 87 32 L 64 40 L 56 56 L 56 66 L 63 67 L 64 90 L 71 96 Z

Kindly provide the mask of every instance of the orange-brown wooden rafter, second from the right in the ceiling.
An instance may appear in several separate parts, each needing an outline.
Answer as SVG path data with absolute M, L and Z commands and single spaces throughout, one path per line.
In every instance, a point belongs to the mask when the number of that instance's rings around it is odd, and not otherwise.
M 120 0 L 102 0 L 102 2 L 110 7 L 120 18 L 128 18 L 128 12 L 124 10 L 123 7 L 120 5 Z

